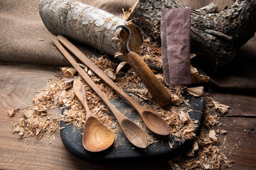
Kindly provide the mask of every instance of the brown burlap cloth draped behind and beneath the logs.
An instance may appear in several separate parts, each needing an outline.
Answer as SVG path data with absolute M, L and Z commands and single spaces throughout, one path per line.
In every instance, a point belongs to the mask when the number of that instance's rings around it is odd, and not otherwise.
M 52 35 L 41 21 L 38 13 L 40 0 L 0 1 L 0 62 L 66 65 L 67 60 L 51 42 Z M 122 17 L 122 8 L 127 11 L 136 0 L 80 0 L 85 4 L 102 8 Z M 178 0 L 191 8 L 201 8 L 215 3 L 220 9 L 231 6 L 233 0 Z M 99 52 L 77 43 L 86 55 Z M 210 75 L 211 84 L 221 89 L 256 91 L 256 36 L 240 48 L 240 54 L 221 74 Z M 0 66 L 1 67 L 1 66 Z

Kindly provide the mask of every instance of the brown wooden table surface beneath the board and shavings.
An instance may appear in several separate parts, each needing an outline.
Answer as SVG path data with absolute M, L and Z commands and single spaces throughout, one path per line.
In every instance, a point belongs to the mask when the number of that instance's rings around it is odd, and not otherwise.
M 19 139 L 11 132 L 11 123 L 22 118 L 16 113 L 10 118 L 9 108 L 23 108 L 55 77 L 58 68 L 27 64 L 0 64 L 0 169 L 171 169 L 168 162 L 137 162 L 136 164 L 95 164 L 73 157 L 63 146 L 60 133 L 55 140 L 43 138 Z M 256 98 L 243 94 L 211 93 L 220 103 L 231 107 L 231 113 L 220 118 L 226 135 L 223 152 L 234 161 L 232 169 L 256 169 Z M 245 132 L 246 131 L 246 132 Z

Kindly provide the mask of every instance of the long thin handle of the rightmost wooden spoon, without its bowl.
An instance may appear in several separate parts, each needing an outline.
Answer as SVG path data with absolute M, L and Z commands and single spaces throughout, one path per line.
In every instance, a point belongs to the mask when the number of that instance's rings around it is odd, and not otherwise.
M 73 53 L 73 55 L 75 55 L 75 57 L 78 57 L 78 59 L 85 64 L 87 67 L 89 67 L 95 74 L 97 74 L 98 77 L 100 77 L 100 79 L 102 79 L 103 81 L 105 81 L 106 84 L 108 84 L 109 86 L 112 87 L 112 89 L 114 89 L 114 91 L 117 92 L 117 94 L 123 96 L 123 98 L 125 98 L 139 113 L 139 115 L 142 116 L 142 112 L 146 111 L 145 108 L 143 108 L 142 106 L 140 106 L 138 103 L 136 103 L 136 101 L 134 101 L 132 98 L 130 98 L 126 93 L 124 93 L 124 91 L 122 91 L 122 89 L 119 88 L 119 86 L 117 86 L 117 84 L 114 83 L 114 81 L 112 81 L 112 79 L 110 79 L 110 77 L 108 77 L 104 72 L 102 72 L 102 69 L 100 69 L 99 67 L 97 67 L 96 64 L 94 64 L 93 62 L 91 62 L 80 50 L 78 50 L 77 47 L 75 47 L 75 45 L 73 45 L 71 42 L 69 42 L 66 38 L 64 38 L 61 35 L 58 35 L 58 40 L 60 40 L 60 42 L 68 49 L 70 50 L 70 52 Z

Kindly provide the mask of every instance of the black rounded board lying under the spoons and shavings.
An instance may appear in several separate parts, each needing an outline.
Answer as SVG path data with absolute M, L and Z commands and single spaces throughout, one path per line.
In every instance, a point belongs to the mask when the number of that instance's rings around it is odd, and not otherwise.
M 189 112 L 189 116 L 192 120 L 198 120 L 198 128 L 196 128 L 195 132 L 198 134 L 200 130 L 200 124 L 203 117 L 204 111 L 204 98 L 193 98 L 188 94 L 184 95 L 186 99 L 189 100 L 189 104 L 191 105 L 192 112 Z M 140 119 L 139 114 L 132 108 L 132 106 L 127 103 L 127 101 L 123 100 L 121 97 L 117 100 L 111 101 L 114 106 L 127 118 L 132 121 Z M 181 106 L 182 107 L 182 106 Z M 64 109 L 63 109 L 64 111 Z M 110 115 L 113 117 L 113 115 Z M 115 120 L 115 119 L 114 119 Z M 89 152 L 82 146 L 82 131 L 79 130 L 74 125 L 66 125 L 63 121 L 60 122 L 60 127 L 65 127 L 60 130 L 60 137 L 63 141 L 65 147 L 80 159 L 85 159 L 90 162 L 111 162 L 114 161 L 125 161 L 129 160 L 149 160 L 149 159 L 170 159 L 171 157 L 175 157 L 181 150 L 185 147 L 185 145 L 190 142 L 189 140 L 184 142 L 176 137 L 171 135 L 169 136 L 161 136 L 154 134 L 154 137 L 159 139 L 158 143 L 151 144 L 146 149 L 141 149 L 134 147 L 127 138 L 124 136 L 121 130 L 117 131 L 117 147 L 112 146 L 109 149 L 106 149 L 103 152 Z M 171 148 L 169 142 L 173 145 Z

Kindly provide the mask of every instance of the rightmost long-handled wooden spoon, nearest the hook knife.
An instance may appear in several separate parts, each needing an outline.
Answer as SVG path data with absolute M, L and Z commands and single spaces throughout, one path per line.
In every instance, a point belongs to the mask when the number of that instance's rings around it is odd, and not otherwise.
M 158 134 L 158 135 L 169 135 L 170 130 L 166 123 L 166 121 L 161 118 L 159 115 L 156 115 L 156 113 L 147 110 L 146 108 L 143 108 L 140 106 L 136 101 L 134 101 L 132 98 L 130 98 L 127 94 L 122 91 L 122 89 L 117 86 L 117 84 L 110 79 L 104 72 L 102 72 L 102 69 L 97 67 L 96 64 L 91 62 L 80 50 L 78 50 L 75 45 L 73 45 L 71 42 L 69 42 L 66 38 L 64 38 L 61 35 L 58 35 L 58 40 L 68 49 L 70 52 L 75 55 L 75 57 L 78 57 L 78 59 L 85 64 L 87 67 L 89 67 L 92 72 L 95 72 L 98 77 L 100 77 L 103 81 L 105 81 L 106 84 L 112 87 L 117 93 L 123 98 L 125 98 L 139 113 L 139 115 L 142 117 L 142 120 L 146 124 L 146 126 L 151 130 L 152 132 Z

